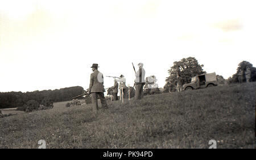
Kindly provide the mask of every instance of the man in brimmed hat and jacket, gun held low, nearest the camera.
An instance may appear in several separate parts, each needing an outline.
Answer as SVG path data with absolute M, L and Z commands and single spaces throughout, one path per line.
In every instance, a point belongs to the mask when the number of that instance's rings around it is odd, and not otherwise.
M 102 107 L 108 108 L 108 104 L 106 103 L 106 99 L 104 96 L 104 86 L 103 86 L 103 74 L 98 71 L 98 64 L 93 64 L 91 66 L 93 73 L 90 74 L 90 85 L 88 94 L 92 95 L 92 104 L 93 104 L 93 112 L 94 115 L 97 115 L 98 111 L 98 98 L 101 100 Z

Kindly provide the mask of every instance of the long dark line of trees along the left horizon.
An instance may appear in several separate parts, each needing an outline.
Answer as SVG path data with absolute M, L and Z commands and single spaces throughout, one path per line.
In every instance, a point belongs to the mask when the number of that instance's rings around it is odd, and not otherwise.
M 59 90 L 43 90 L 32 92 L 0 92 L 0 108 L 22 107 L 29 100 L 35 100 L 39 104 L 71 100 L 72 97 L 84 94 L 80 86 L 66 87 Z

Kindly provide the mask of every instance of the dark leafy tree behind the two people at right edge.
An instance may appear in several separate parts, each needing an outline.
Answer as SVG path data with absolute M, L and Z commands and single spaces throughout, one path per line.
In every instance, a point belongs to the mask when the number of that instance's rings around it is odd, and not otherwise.
M 242 61 L 240 62 L 240 64 L 238 64 L 238 68 L 237 68 L 237 72 L 235 74 L 232 75 L 232 77 L 228 78 L 228 83 L 238 83 L 238 72 L 240 70 L 243 71 L 243 82 L 246 81 L 245 79 L 245 71 L 246 71 L 246 67 L 249 67 L 251 69 L 251 82 L 255 82 L 256 81 L 256 68 L 253 67 L 253 65 L 250 62 L 247 61 Z

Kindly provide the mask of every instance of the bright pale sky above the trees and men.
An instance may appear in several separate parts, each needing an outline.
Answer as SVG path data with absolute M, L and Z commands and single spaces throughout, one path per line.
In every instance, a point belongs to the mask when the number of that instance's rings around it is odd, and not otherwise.
M 228 78 L 255 59 L 255 1 L 0 1 L 0 92 L 88 89 L 96 63 L 105 87 L 137 64 L 165 85 L 168 69 L 195 57 Z

